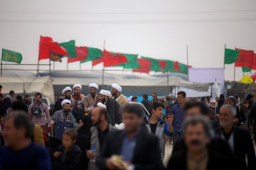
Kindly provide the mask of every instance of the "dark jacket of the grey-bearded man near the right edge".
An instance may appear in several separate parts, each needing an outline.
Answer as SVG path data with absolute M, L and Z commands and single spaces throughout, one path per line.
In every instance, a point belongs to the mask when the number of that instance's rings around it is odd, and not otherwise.
M 221 136 L 221 128 L 216 129 L 216 136 Z M 247 129 L 234 126 L 234 161 L 236 169 L 256 169 L 255 150 L 252 137 Z M 246 166 L 246 155 L 248 168 Z

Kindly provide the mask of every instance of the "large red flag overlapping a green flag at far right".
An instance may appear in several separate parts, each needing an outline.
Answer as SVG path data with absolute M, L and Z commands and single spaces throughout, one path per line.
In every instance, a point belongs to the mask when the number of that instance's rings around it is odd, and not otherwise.
M 237 57 L 237 60 L 235 62 L 236 67 L 248 67 L 252 68 L 253 66 L 253 51 L 252 50 L 241 50 L 239 48 L 236 48 L 236 50 L 239 50 L 240 53 Z

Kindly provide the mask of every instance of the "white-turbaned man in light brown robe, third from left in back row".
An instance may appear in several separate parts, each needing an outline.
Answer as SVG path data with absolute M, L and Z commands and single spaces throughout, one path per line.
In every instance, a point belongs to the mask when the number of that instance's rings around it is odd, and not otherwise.
M 100 96 L 96 94 L 99 86 L 95 83 L 90 83 L 89 89 L 90 94 L 84 97 L 84 111 L 91 114 L 93 108 L 95 108 L 100 101 Z

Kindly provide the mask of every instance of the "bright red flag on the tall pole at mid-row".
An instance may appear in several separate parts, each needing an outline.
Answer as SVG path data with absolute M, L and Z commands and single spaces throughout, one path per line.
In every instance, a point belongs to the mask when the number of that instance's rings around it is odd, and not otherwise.
M 108 52 L 107 50 L 103 51 L 103 66 L 109 67 L 109 66 L 116 66 L 118 64 L 122 64 L 127 62 L 127 58 L 123 54 L 116 53 L 115 55 L 111 52 Z

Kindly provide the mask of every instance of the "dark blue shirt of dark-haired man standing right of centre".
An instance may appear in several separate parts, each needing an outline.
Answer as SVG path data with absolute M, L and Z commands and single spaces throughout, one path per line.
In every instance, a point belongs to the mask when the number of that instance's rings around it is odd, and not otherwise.
M 182 110 L 180 104 L 175 104 L 174 106 L 172 106 L 170 115 L 174 115 L 174 119 L 172 122 L 173 130 L 175 132 L 181 132 L 182 124 L 184 122 L 185 112 Z

